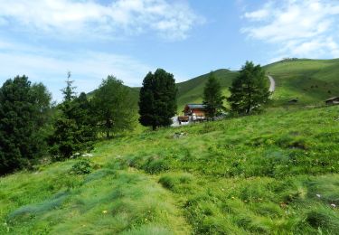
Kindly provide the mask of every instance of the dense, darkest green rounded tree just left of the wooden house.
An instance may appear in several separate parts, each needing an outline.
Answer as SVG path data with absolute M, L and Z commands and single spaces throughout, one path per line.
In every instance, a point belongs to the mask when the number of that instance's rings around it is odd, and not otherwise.
M 162 69 L 149 72 L 140 89 L 139 122 L 153 130 L 170 126 L 177 108 L 176 93 L 173 74 Z

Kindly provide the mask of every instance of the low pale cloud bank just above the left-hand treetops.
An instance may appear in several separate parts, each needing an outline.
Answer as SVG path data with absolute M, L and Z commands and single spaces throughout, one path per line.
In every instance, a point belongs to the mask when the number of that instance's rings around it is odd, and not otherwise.
M 7 50 L 1 50 L 2 48 Z M 17 50 L 16 50 L 17 48 Z M 81 56 L 79 56 L 81 55 Z M 16 75 L 44 83 L 54 99 L 61 100 L 67 71 L 73 74 L 78 91 L 99 87 L 108 74 L 124 80 L 128 86 L 140 86 L 148 71 L 154 68 L 125 55 L 104 52 L 50 52 L 11 42 L 0 43 L 0 86 Z

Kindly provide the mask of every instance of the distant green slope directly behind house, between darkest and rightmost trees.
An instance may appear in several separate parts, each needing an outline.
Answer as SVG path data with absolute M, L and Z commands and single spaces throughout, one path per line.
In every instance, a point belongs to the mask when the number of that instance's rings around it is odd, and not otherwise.
M 228 95 L 228 88 L 231 81 L 238 75 L 237 71 L 218 70 L 214 71 L 214 75 L 221 82 L 221 87 L 224 95 Z M 208 79 L 209 73 L 196 77 L 192 80 L 177 83 L 178 96 L 177 104 L 179 114 L 184 110 L 184 105 L 188 103 L 201 103 L 204 85 Z

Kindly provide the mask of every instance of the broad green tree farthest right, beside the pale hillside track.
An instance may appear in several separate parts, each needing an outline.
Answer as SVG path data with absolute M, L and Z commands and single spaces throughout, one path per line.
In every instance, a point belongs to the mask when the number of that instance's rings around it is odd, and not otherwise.
M 259 110 L 260 105 L 267 102 L 270 95 L 265 71 L 260 65 L 255 66 L 253 62 L 246 61 L 240 75 L 232 81 L 230 91 L 231 97 L 228 101 L 232 111 L 250 114 Z

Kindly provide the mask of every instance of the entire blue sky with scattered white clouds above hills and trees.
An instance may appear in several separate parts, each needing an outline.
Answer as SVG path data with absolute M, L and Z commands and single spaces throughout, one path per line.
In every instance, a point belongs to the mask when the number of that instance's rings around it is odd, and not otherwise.
M 0 83 L 42 81 L 61 100 L 108 74 L 140 86 L 163 68 L 177 81 L 245 61 L 339 57 L 337 0 L 0 0 Z

